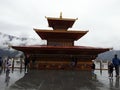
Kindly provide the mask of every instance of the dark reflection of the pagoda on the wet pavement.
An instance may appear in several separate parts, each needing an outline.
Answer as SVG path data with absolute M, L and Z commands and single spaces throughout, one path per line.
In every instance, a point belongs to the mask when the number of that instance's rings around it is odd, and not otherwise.
M 19 86 L 19 90 L 99 90 L 102 84 L 92 80 L 91 75 L 88 71 L 31 71 L 12 85 L 11 89 L 17 89 Z

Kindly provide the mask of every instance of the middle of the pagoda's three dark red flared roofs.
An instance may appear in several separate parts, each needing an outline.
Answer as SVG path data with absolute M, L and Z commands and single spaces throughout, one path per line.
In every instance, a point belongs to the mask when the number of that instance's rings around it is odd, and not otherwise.
M 41 30 L 34 29 L 36 33 L 44 40 L 46 39 L 72 39 L 78 40 L 88 31 L 61 31 L 61 30 Z

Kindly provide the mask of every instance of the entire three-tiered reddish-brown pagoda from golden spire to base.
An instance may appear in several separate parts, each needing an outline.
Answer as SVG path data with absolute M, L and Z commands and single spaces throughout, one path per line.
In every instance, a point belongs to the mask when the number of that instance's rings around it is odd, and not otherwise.
M 35 69 L 51 70 L 91 70 L 92 60 L 110 48 L 75 46 L 74 41 L 88 31 L 68 30 L 77 19 L 46 17 L 53 30 L 34 29 L 47 45 L 12 46 L 29 54 L 35 61 Z M 32 65 L 31 65 L 32 68 Z

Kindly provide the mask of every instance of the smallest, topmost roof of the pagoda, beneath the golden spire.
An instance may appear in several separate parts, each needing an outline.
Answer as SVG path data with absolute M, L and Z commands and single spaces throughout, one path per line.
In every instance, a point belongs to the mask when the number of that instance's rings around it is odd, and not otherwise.
M 71 19 L 71 18 L 53 18 L 53 17 L 46 17 L 48 20 L 49 27 L 52 27 L 53 30 L 61 29 L 61 30 L 67 30 L 68 28 L 71 28 L 77 19 Z

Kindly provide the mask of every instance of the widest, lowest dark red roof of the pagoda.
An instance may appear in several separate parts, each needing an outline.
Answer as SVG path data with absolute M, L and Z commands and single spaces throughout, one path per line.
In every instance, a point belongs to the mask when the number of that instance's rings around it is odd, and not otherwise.
M 110 48 L 96 48 L 87 46 L 12 46 L 12 48 L 28 54 L 66 54 L 66 55 L 91 55 L 96 56 Z

